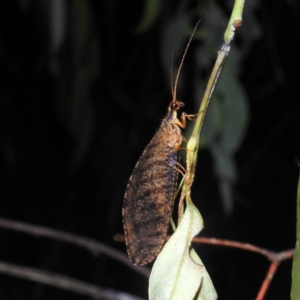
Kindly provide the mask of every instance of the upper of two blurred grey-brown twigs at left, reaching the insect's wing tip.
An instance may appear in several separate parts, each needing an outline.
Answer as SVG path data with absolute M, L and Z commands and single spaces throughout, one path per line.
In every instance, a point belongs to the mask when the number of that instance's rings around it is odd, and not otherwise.
M 7 228 L 15 231 L 25 232 L 35 236 L 48 237 L 51 239 L 61 240 L 66 243 L 74 244 L 79 247 L 85 248 L 91 251 L 94 255 L 103 253 L 113 259 L 116 259 L 134 271 L 142 274 L 145 277 L 149 277 L 150 271 L 145 267 L 136 267 L 129 261 L 127 255 L 109 247 L 95 240 L 81 237 L 75 234 L 65 233 L 58 230 L 49 229 L 42 226 L 30 225 L 23 222 L 11 221 L 0 218 L 0 227 Z

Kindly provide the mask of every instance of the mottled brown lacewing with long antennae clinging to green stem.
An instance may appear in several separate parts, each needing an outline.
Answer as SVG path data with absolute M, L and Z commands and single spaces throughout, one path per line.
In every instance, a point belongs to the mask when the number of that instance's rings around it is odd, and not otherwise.
M 180 172 L 178 150 L 184 139 L 181 128 L 185 127 L 186 119 L 195 116 L 182 113 L 181 120 L 178 119 L 177 112 L 184 103 L 176 100 L 176 87 L 198 24 L 184 51 L 167 115 L 135 165 L 126 188 L 123 224 L 128 256 L 135 265 L 145 265 L 157 256 L 169 228 Z

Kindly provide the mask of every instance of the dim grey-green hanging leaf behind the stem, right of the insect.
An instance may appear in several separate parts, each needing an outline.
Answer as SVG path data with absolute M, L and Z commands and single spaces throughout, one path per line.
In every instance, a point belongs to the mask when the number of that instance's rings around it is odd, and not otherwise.
M 216 87 L 203 126 L 202 146 L 210 148 L 224 209 L 233 209 L 232 186 L 236 179 L 234 154 L 240 147 L 248 125 L 248 105 L 236 77 L 236 52 L 228 58 Z M 203 144 L 205 141 L 205 144 Z

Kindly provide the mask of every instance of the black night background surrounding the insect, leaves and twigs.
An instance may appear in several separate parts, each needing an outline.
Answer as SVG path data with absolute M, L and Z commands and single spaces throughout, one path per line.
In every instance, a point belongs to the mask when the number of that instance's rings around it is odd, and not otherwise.
M 233 1 L 219 2 L 215 10 L 228 18 Z M 199 154 L 193 199 L 204 217 L 202 235 L 282 251 L 295 244 L 300 5 L 296 0 L 251 2 L 256 3 L 251 22 L 259 34 L 245 44 L 254 30 L 245 18 L 233 41 L 240 55 L 236 79 L 249 119 L 234 156 L 233 209 L 225 209 L 209 144 Z M 170 61 L 172 43 L 164 49 L 164 30 L 185 18 L 190 24 L 186 44 L 197 19 L 203 19 L 199 30 L 210 36 L 214 28 L 207 24 L 219 21 L 207 20 L 205 1 L 163 1 L 147 23 L 145 3 L 1 1 L 0 217 L 93 238 L 125 253 L 125 245 L 113 240 L 123 232 L 124 190 L 171 99 L 170 63 L 162 53 L 167 51 Z M 250 14 L 247 4 L 245 15 Z M 59 9 L 51 13 L 54 7 Z M 222 45 L 221 29 L 209 57 Z M 187 112 L 197 110 L 193 86 L 205 86 L 213 63 L 197 71 L 197 82 L 195 55 L 208 55 L 205 41 L 194 38 L 183 67 L 178 97 Z M 175 67 L 179 61 L 175 57 Z M 265 258 L 217 246 L 196 249 L 220 299 L 255 298 L 268 269 Z M 63 242 L 0 229 L 0 260 L 147 298 L 141 275 Z M 279 267 L 266 299 L 289 299 L 291 265 L 289 260 Z M 86 298 L 0 278 L 5 300 Z

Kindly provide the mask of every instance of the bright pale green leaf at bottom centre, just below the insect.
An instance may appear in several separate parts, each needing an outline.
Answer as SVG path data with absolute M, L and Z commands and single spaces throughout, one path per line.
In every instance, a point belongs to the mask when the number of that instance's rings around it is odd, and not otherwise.
M 187 201 L 178 228 L 153 266 L 149 280 L 150 300 L 190 300 L 198 294 L 205 268 L 196 252 L 191 249 L 191 241 L 202 228 L 203 219 L 199 211 L 191 201 Z

